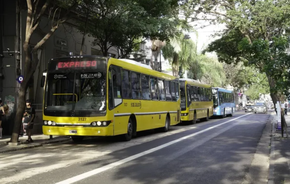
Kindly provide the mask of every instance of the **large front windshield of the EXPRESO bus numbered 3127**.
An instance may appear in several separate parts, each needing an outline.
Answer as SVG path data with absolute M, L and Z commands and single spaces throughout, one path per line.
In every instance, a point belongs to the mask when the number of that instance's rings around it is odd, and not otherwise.
M 105 72 L 48 73 L 45 108 L 51 111 L 106 110 Z

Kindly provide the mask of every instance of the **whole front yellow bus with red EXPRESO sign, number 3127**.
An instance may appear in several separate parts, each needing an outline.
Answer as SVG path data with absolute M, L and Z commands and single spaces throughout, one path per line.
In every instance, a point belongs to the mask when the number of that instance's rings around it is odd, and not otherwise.
M 178 78 L 128 59 L 74 56 L 48 62 L 43 133 L 84 136 L 122 135 L 180 123 Z

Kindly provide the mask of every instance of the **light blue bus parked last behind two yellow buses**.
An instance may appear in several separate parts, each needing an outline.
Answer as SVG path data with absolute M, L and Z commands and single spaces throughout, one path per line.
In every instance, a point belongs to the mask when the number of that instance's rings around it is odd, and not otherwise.
M 233 91 L 224 88 L 212 88 L 213 91 L 213 116 L 222 118 L 233 116 L 235 112 L 235 99 Z

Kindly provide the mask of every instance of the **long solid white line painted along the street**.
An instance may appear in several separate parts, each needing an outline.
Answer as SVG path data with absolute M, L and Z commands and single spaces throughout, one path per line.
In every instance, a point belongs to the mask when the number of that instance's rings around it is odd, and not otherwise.
M 206 131 L 208 131 L 208 130 L 211 130 L 211 129 L 213 129 L 213 128 L 215 128 L 215 127 L 218 127 L 218 126 L 220 126 L 220 125 L 223 125 L 223 124 L 229 123 L 229 122 L 234 121 L 234 120 L 236 120 L 236 119 L 239 119 L 239 118 L 241 118 L 241 117 L 247 116 L 247 115 L 249 115 L 249 114 L 252 114 L 252 113 L 248 113 L 248 114 L 245 114 L 245 115 L 239 116 L 239 117 L 237 117 L 237 118 L 231 119 L 231 120 L 226 121 L 226 122 L 224 122 L 224 123 L 220 123 L 220 124 L 218 124 L 218 125 L 215 125 L 215 126 L 212 126 L 212 127 L 206 128 L 206 129 L 201 130 L 201 131 L 199 131 L 199 132 L 195 132 L 195 133 L 193 133 L 193 134 L 190 134 L 190 135 L 187 135 L 187 136 L 181 137 L 181 138 L 176 139 L 176 140 L 174 140 L 174 141 L 170 141 L 170 142 L 168 142 L 168 143 L 166 143 L 166 144 L 163 144 L 163 145 L 160 145 L 160 146 L 154 147 L 154 148 L 152 148 L 152 149 L 150 149 L 150 150 L 147 150 L 147 151 L 144 151 L 144 152 L 141 152 L 141 153 L 135 154 L 135 155 L 133 155 L 133 156 L 129 156 L 129 157 L 126 158 L 126 159 L 122 159 L 122 160 L 119 160 L 119 161 L 117 161 L 117 162 L 110 163 L 110 164 L 105 165 L 105 166 L 103 166 L 103 167 L 99 167 L 99 168 L 97 168 L 97 169 L 91 170 L 91 171 L 89 171 L 89 172 L 85 172 L 85 173 L 83 173 L 83 174 L 80 174 L 80 175 L 74 176 L 74 177 L 72 177 L 72 178 L 66 179 L 66 180 L 64 180 L 64 181 L 61 181 L 61 182 L 58 182 L 58 183 L 55 183 L 55 184 L 70 184 L 70 183 L 75 183 L 75 182 L 80 181 L 80 180 L 82 180 L 82 179 L 85 179 L 85 178 L 88 178 L 88 177 L 90 177 L 90 176 L 96 175 L 96 174 L 98 174 L 98 173 L 100 173 L 100 172 L 104 172 L 104 171 L 106 171 L 106 170 L 112 169 L 113 167 L 117 167 L 118 165 L 122 165 L 122 164 L 124 164 L 124 163 L 129 162 L 129 161 L 135 160 L 135 159 L 137 159 L 137 158 L 139 158 L 139 157 L 141 157 L 141 156 L 144 156 L 144 155 L 147 155 L 147 154 L 149 154 L 149 153 L 155 152 L 155 151 L 157 151 L 157 150 L 161 150 L 161 149 L 164 148 L 164 147 L 167 147 L 167 146 L 172 145 L 172 144 L 174 144 L 174 143 L 180 142 L 180 141 L 182 141 L 182 140 L 184 140 L 184 139 L 188 139 L 188 138 L 193 137 L 193 136 L 195 136 L 195 135 L 197 135 L 197 134 L 201 134 L 201 133 L 203 133 L 203 132 L 206 132 Z

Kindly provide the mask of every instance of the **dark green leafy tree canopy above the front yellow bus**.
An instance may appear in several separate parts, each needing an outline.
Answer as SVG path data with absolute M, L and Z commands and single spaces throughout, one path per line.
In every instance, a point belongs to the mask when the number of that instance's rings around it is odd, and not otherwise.
M 176 34 L 176 0 L 152 1 L 150 5 L 145 0 L 93 0 L 90 4 L 88 33 L 105 56 L 115 47 L 126 58 L 146 39 L 168 40 Z

